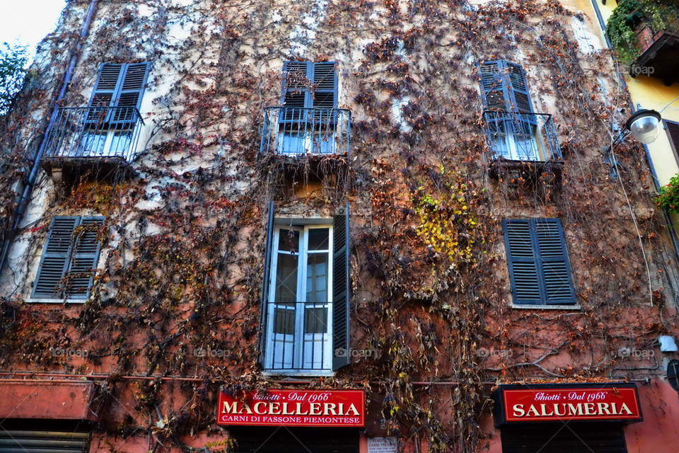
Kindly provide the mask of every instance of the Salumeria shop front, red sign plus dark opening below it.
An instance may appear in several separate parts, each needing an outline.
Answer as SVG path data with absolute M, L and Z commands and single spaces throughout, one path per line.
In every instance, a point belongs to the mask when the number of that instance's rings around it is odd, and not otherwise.
M 503 453 L 628 453 L 625 425 L 642 421 L 629 383 L 502 385 L 494 402 Z

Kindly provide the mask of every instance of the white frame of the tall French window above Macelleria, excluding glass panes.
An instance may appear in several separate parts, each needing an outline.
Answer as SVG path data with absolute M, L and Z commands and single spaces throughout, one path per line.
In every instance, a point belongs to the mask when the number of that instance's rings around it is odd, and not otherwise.
M 277 308 L 276 302 L 276 278 L 278 270 L 278 256 L 279 256 L 279 239 L 280 231 L 284 230 L 294 230 L 300 232 L 299 238 L 299 250 L 298 250 L 298 263 L 297 263 L 297 301 L 296 302 L 306 302 L 306 279 L 307 279 L 307 267 L 308 267 L 308 256 L 314 253 L 327 253 L 328 255 L 328 268 L 327 268 L 327 302 L 318 302 L 318 307 L 327 308 L 327 330 L 325 333 L 320 334 L 325 336 L 323 339 L 323 367 L 303 367 L 303 352 L 304 345 L 306 343 L 306 334 L 298 335 L 298 332 L 303 332 L 304 329 L 304 309 L 298 309 L 298 305 L 295 306 L 295 334 L 294 334 L 294 358 L 293 367 L 285 368 L 275 368 L 273 365 L 274 361 L 274 321 L 275 321 L 275 309 Z M 328 248 L 326 251 L 309 251 L 308 250 L 308 240 L 309 231 L 313 229 L 327 229 L 328 231 Z M 271 374 L 298 374 L 298 375 L 310 375 L 310 374 L 332 374 L 332 247 L 333 247 L 333 237 L 332 237 L 332 224 L 306 224 L 306 225 L 277 225 L 274 228 L 274 237 L 272 241 L 272 253 L 271 253 L 271 270 L 269 274 L 269 295 L 267 301 L 267 335 L 266 335 L 266 346 L 265 346 L 265 371 Z M 284 251 L 284 253 L 286 253 Z M 318 333 L 312 333 L 310 335 L 319 335 Z

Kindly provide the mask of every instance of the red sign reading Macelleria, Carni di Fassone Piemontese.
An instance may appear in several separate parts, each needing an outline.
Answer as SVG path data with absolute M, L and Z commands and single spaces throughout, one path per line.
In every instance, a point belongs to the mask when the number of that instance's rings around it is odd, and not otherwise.
M 248 426 L 364 426 L 362 390 L 268 390 L 237 398 L 219 392 L 217 423 Z

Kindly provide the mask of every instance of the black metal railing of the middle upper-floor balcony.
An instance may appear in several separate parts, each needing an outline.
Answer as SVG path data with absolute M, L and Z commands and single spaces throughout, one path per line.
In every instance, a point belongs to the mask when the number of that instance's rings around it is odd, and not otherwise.
M 351 118 L 346 108 L 267 107 L 260 152 L 349 155 Z

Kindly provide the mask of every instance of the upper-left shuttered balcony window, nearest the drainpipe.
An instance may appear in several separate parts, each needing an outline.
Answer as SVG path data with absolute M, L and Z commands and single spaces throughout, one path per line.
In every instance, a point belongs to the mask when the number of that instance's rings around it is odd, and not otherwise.
M 104 63 L 85 115 L 83 156 L 117 156 L 129 149 L 139 122 L 149 63 Z

